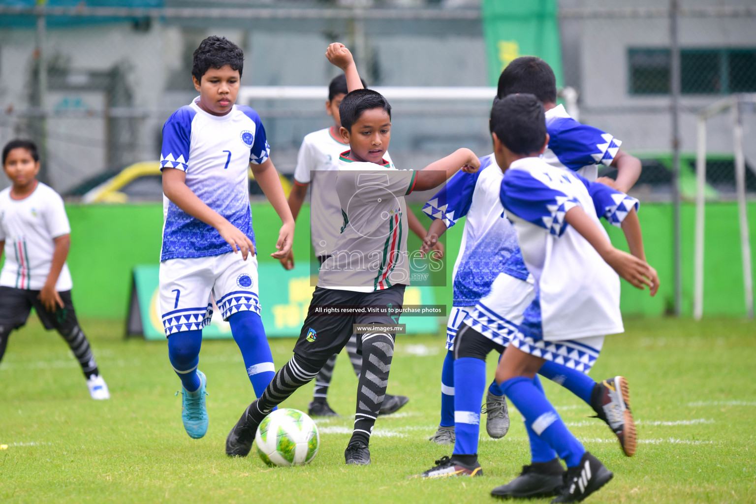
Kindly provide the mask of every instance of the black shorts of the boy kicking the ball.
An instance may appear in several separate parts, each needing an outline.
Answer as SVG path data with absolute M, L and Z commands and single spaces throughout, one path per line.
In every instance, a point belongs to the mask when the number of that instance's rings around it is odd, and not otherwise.
M 401 310 L 404 303 L 404 286 L 391 286 L 389 289 L 373 292 L 354 292 L 351 290 L 324 289 L 315 287 L 302 332 L 294 345 L 294 354 L 305 359 L 327 360 L 338 354 L 349 338 L 352 337 L 352 325 L 355 323 L 396 324 L 399 317 L 389 314 L 360 314 L 349 316 L 319 314 L 318 307 L 341 306 L 387 306 Z M 357 335 L 357 353 L 362 353 L 362 335 Z

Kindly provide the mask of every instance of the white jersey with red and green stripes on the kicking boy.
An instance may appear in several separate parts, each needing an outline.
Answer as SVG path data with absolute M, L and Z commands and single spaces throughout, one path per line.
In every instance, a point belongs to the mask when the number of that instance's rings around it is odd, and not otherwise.
M 321 266 L 318 286 L 373 292 L 410 284 L 407 204 L 417 172 L 339 156 L 336 195 L 342 226 L 331 257 Z M 335 195 L 334 195 L 335 196 Z

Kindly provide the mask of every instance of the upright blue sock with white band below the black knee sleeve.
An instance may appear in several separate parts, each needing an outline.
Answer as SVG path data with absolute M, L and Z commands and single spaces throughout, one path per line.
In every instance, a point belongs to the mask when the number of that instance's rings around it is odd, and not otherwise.
M 454 377 L 460 394 L 454 394 L 454 454 L 478 453 L 480 404 L 485 392 L 485 360 L 454 360 Z

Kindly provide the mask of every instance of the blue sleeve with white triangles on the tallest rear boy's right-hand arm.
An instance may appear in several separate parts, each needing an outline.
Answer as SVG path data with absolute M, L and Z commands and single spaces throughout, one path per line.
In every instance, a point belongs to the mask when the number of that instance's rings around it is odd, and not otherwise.
M 600 165 L 612 164 L 622 144 L 609 133 L 575 121 L 562 105 L 547 110 L 546 129 L 549 145 L 544 161 L 578 172 L 589 181 L 596 180 Z

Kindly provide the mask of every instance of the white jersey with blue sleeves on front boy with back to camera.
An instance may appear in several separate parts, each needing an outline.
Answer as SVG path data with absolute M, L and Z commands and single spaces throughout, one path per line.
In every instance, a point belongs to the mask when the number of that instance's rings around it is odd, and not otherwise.
M 619 277 L 565 214 L 581 206 L 609 240 L 599 217 L 619 224 L 637 199 L 534 157 L 510 165 L 500 197 L 535 280 L 522 332 L 547 342 L 623 332 Z

